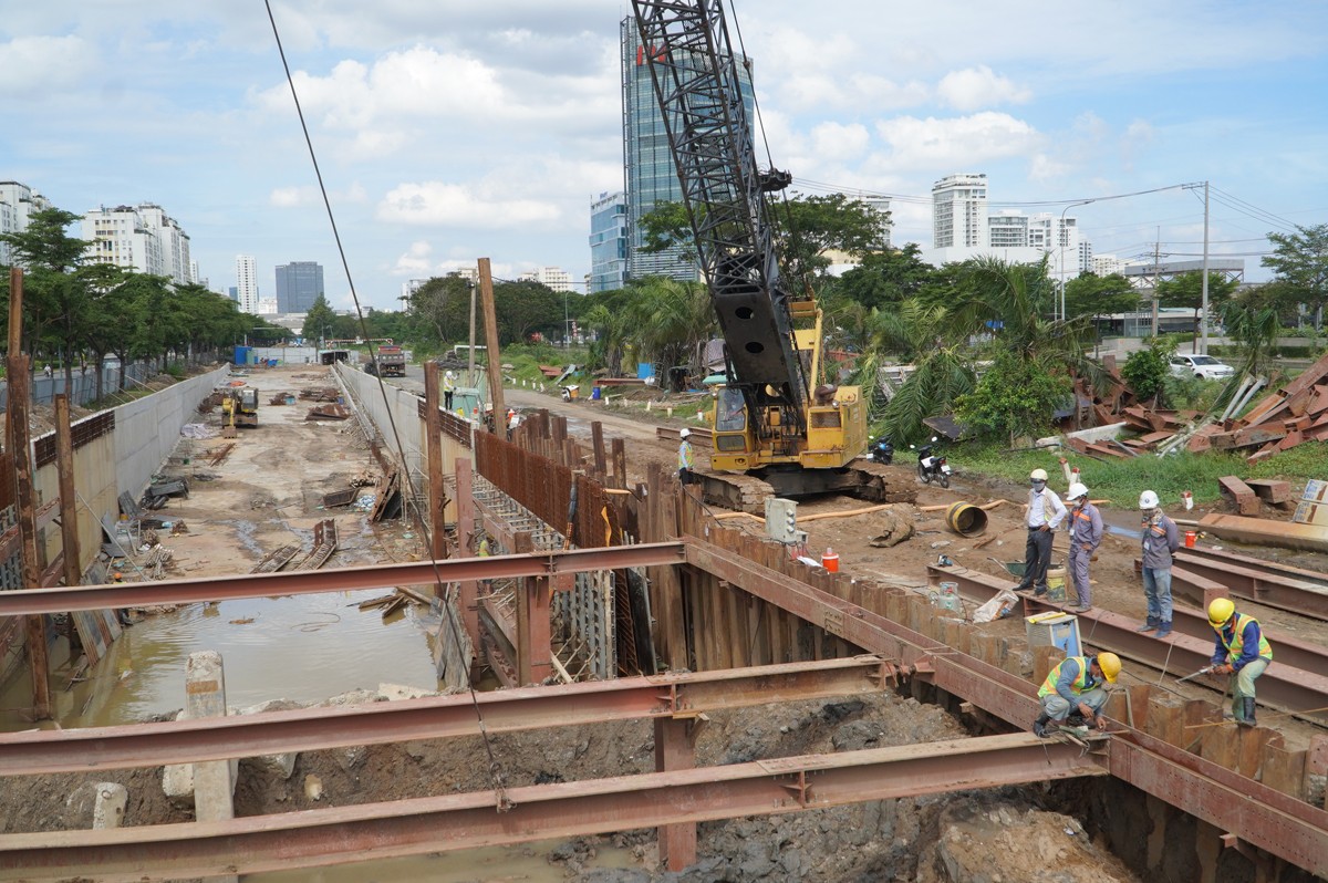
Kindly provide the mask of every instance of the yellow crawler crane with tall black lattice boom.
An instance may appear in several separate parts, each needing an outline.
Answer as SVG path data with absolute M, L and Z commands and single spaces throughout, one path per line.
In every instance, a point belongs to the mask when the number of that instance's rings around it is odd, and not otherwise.
M 862 389 L 827 381 L 821 308 L 781 274 L 769 195 L 793 177 L 757 166 L 722 0 L 632 11 L 725 344 L 705 499 L 760 511 L 770 494 L 894 498 L 886 470 L 854 462 L 867 447 Z

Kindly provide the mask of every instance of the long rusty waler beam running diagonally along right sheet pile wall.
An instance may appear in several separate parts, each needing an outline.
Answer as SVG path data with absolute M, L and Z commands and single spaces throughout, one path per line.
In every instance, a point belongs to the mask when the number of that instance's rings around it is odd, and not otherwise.
M 688 538 L 687 556 L 866 651 L 903 661 L 906 671 L 912 667 L 938 688 L 1021 729 L 1037 717 L 1041 706 L 1031 681 L 703 540 Z M 1328 813 L 1142 730 L 1112 725 L 1114 775 L 1311 874 L 1328 875 Z

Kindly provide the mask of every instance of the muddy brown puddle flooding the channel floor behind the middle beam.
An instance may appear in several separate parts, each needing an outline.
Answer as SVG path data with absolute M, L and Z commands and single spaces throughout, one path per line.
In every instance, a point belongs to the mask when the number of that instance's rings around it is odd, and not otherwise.
M 64 728 L 129 724 L 185 706 L 185 663 L 216 651 L 226 701 L 247 708 L 267 700 L 316 702 L 378 684 L 438 689 L 421 608 L 384 621 L 357 609 L 382 590 L 193 604 L 130 625 L 92 669 L 74 676 L 68 644 L 52 648 L 56 722 Z M 27 677 L 0 696 L 0 729 L 27 729 Z

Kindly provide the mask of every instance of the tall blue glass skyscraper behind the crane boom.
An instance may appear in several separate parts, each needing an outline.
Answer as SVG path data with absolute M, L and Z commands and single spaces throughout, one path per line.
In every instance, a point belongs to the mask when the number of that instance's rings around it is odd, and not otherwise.
M 633 19 L 622 24 L 623 73 L 623 178 L 627 191 L 627 278 L 671 276 L 696 280 L 695 260 L 683 255 L 695 251 L 692 246 L 675 246 L 660 252 L 641 251 L 644 231 L 641 218 L 660 202 L 681 202 L 683 187 L 677 182 L 677 166 L 668 146 L 664 117 L 655 100 L 651 82 L 651 54 L 641 46 L 641 37 Z M 756 120 L 752 90 L 752 65 L 745 60 L 738 65 L 738 86 L 748 118 Z

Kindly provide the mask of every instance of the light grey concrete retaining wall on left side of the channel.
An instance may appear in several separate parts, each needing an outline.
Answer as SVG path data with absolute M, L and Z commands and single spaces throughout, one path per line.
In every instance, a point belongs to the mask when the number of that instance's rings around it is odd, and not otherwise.
M 116 483 L 135 497 L 147 487 L 179 441 L 181 426 L 199 420 L 198 402 L 226 377 L 227 368 L 116 408 Z

